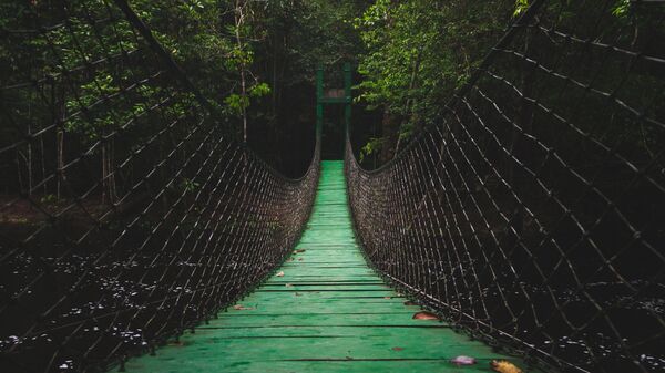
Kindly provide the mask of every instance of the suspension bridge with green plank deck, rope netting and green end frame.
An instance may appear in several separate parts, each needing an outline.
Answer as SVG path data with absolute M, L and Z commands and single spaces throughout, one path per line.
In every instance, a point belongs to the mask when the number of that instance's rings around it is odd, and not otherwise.
M 32 3 L 0 42 L 0 370 L 661 371 L 665 8 L 615 3 L 533 1 L 378 169 L 319 86 L 345 156 L 319 116 L 298 179 L 125 0 Z

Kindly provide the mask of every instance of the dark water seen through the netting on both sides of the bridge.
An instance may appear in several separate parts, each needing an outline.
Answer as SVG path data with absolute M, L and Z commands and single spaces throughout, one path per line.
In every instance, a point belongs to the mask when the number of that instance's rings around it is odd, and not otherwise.
M 100 237 L 90 247 L 106 245 Z M 52 255 L 44 251 L 47 244 Z M 214 313 L 278 262 L 266 260 L 256 267 L 237 252 L 218 252 L 216 260 L 205 251 L 180 255 L 173 249 L 180 244 L 174 240 L 158 251 L 131 246 L 132 251 L 85 255 L 78 249 L 63 256 L 57 253 L 65 248 L 48 240 L 44 247 L 20 253 L 2 247 L 3 371 L 44 372 L 49 366 L 48 372 L 82 372 L 113 358 L 147 352 L 152 341 Z M 74 283 L 78 291 L 63 298 Z M 630 288 L 641 289 L 638 296 Z M 495 282 L 483 288 L 483 298 L 485 304 L 497 305 L 491 313 L 497 328 L 589 372 L 640 372 L 638 365 L 665 371 L 665 325 L 658 321 L 665 319 L 663 283 L 598 281 L 586 283 L 581 292 Z M 501 312 L 504 301 L 533 312 L 522 312 L 519 322 L 512 322 Z M 539 320 L 542 329 L 533 314 L 549 315 Z

